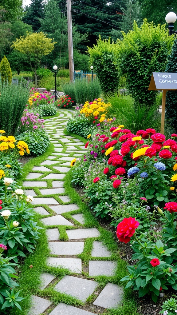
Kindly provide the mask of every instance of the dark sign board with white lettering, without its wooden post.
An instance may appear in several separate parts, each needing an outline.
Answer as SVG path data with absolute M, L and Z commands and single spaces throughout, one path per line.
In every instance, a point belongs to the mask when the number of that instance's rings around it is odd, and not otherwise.
M 157 90 L 177 90 L 176 72 L 152 72 L 150 91 Z

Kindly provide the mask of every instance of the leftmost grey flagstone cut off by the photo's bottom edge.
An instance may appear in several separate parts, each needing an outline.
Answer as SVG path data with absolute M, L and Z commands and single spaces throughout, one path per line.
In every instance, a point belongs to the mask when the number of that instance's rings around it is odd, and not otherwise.
M 45 310 L 52 304 L 52 302 L 39 296 L 32 295 L 31 304 L 31 310 L 28 312 L 27 315 L 40 315 L 41 313 L 45 312 Z

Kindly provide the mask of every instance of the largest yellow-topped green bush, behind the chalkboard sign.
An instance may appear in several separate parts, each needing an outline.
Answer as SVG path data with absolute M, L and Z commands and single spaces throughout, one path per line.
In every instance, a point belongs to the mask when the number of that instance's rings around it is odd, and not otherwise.
M 133 31 L 115 44 L 115 62 L 121 75 L 127 75 L 127 88 L 134 100 L 150 106 L 155 104 L 156 91 L 148 91 L 152 72 L 163 72 L 174 41 L 164 25 L 154 25 L 144 19 L 139 28 L 134 22 Z

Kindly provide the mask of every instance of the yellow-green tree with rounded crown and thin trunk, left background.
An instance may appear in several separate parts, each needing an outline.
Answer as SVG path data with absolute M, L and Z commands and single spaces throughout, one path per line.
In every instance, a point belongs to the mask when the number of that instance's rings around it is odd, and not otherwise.
M 46 37 L 43 32 L 29 34 L 26 37 L 17 38 L 13 42 L 14 50 L 26 54 L 30 61 L 31 70 L 35 75 L 35 87 L 37 87 L 37 66 L 40 64 L 42 57 L 48 55 L 54 49 L 55 43 L 52 43 L 52 39 Z

